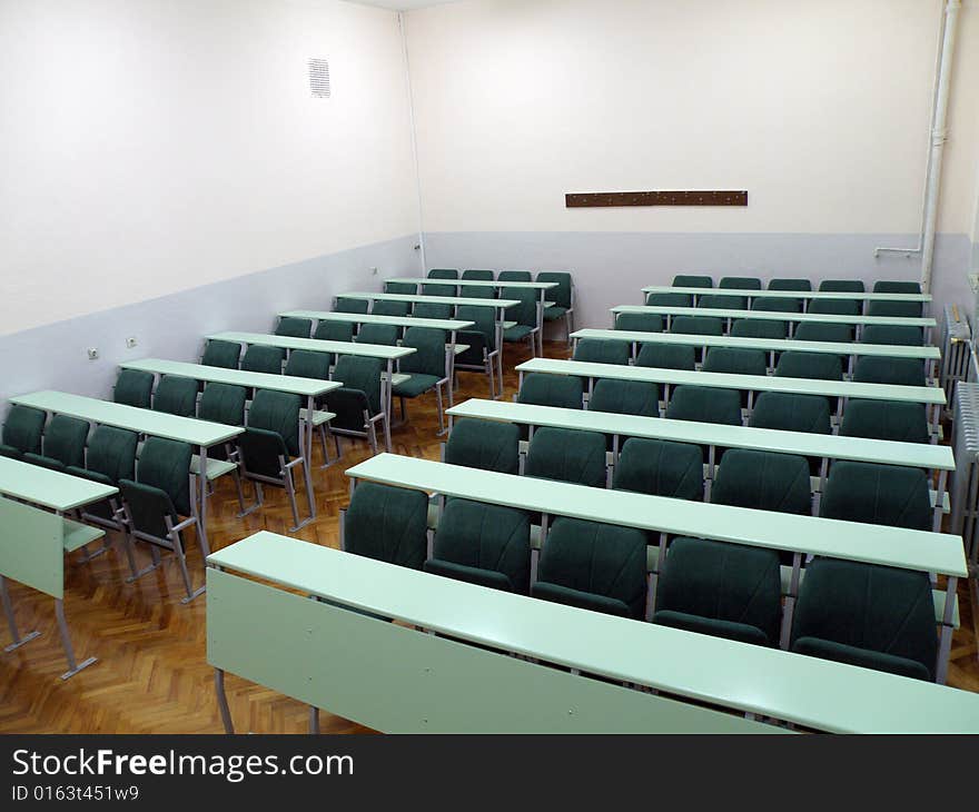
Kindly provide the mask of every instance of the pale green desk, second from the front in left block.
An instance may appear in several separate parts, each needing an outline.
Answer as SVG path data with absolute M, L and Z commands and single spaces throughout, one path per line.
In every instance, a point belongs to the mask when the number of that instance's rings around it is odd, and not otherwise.
M 140 409 L 135 406 L 72 395 L 67 392 L 46 390 L 30 395 L 18 395 L 11 397 L 10 403 L 30 406 L 51 414 L 77 417 L 89 423 L 126 428 L 139 434 L 176 439 L 196 446 L 199 459 L 197 476 L 199 495 L 196 505 L 198 539 L 205 557 L 210 553 L 207 542 L 207 449 L 234 439 L 245 430 L 244 428 L 198 420 L 192 417 L 177 417 L 162 412 Z

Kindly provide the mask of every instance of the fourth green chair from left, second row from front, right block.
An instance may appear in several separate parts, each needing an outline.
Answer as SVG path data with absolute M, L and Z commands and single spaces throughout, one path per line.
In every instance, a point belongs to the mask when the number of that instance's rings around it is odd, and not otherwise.
M 711 503 L 808 515 L 812 512 L 809 463 L 794 454 L 730 448 L 711 487 Z

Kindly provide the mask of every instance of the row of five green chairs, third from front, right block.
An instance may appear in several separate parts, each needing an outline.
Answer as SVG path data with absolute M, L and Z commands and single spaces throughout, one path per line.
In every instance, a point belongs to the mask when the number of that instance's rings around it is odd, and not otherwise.
M 581 378 L 572 375 L 532 373 L 524 376 L 516 400 L 535 406 L 581 409 L 584 408 L 584 386 Z M 601 378 L 587 399 L 587 407 L 595 412 L 656 417 L 659 400 L 655 384 Z M 744 423 L 741 406 L 741 395 L 735 389 L 683 385 L 673 389 L 665 416 L 675 420 L 740 426 Z M 820 395 L 762 392 L 754 400 L 748 425 L 783 432 L 832 434 L 832 414 L 829 399 Z M 898 400 L 850 399 L 839 433 L 901 443 L 930 442 L 924 405 Z

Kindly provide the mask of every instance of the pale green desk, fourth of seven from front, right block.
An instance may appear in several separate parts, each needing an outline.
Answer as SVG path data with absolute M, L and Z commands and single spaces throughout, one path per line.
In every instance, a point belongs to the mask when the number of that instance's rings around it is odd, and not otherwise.
M 774 375 L 734 375 L 728 373 L 690 372 L 689 369 L 663 369 L 661 367 L 623 366 L 620 364 L 591 364 L 556 358 L 531 358 L 516 367 L 523 386 L 524 373 L 548 375 L 577 375 L 589 379 L 589 392 L 597 378 L 642 380 L 647 384 L 665 384 L 669 404 L 670 387 L 690 384 L 739 389 L 749 393 L 783 392 L 791 395 L 822 395 L 839 398 L 837 417 L 842 415 L 843 400 L 901 400 L 921 403 L 932 409 L 932 426 L 937 433 L 941 407 L 946 404 L 940 386 L 896 386 L 891 384 L 862 384 L 856 380 L 819 380 L 817 378 L 780 378 Z

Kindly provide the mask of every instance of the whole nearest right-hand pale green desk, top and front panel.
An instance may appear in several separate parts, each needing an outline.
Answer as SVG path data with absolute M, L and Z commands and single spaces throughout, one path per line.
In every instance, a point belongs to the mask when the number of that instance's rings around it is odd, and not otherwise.
M 386 732 L 784 731 L 733 714 L 841 733 L 979 730 L 979 696 L 966 691 L 488 590 L 271 533 L 225 547 L 208 564 L 208 663 L 228 733 L 225 672 Z M 314 730 L 317 719 L 314 711 Z

